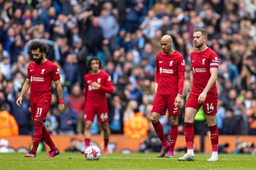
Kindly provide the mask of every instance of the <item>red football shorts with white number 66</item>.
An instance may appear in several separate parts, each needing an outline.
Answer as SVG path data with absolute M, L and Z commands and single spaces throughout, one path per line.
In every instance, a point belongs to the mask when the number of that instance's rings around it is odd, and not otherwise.
M 108 105 L 86 105 L 84 108 L 84 121 L 90 120 L 93 122 L 95 114 L 97 114 L 99 123 L 108 122 Z

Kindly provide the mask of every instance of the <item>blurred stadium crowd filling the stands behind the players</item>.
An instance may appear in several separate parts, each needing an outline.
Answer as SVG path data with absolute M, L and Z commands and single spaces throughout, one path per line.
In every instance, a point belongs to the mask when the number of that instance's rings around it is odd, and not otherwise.
M 83 77 L 89 72 L 88 59 L 97 56 L 114 85 L 114 95 L 108 95 L 111 134 L 150 136 L 155 133 L 148 123 L 155 57 L 162 50 L 161 37 L 169 34 L 186 62 L 178 127 L 183 134 L 184 105 L 191 89 L 190 54 L 195 50 L 192 34 L 202 27 L 208 32 L 207 46 L 221 61 L 216 81 L 219 134 L 256 135 L 255 0 L 0 0 L 0 100 L 16 119 L 19 134 L 33 134 L 29 95 L 21 108 L 16 100 L 32 61 L 28 43 L 41 39 L 49 45 L 47 59 L 58 65 L 66 108 L 58 113 L 52 85 L 46 120 L 50 133 L 84 132 Z M 198 115 L 196 121 L 205 120 L 202 110 Z M 134 125 L 137 119 L 142 120 L 140 125 Z M 160 122 L 168 132 L 168 116 Z M 140 130 L 133 132 L 131 126 Z M 92 134 L 98 133 L 95 119 Z

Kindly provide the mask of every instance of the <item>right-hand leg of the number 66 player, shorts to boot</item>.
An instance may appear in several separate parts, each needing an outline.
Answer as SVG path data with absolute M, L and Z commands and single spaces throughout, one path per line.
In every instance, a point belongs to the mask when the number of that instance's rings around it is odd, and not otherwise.
M 110 136 L 110 130 L 108 126 L 108 106 L 103 105 L 101 107 L 97 107 L 96 109 L 98 122 L 103 130 L 104 136 L 104 147 L 103 147 L 103 154 L 108 154 L 108 141 Z

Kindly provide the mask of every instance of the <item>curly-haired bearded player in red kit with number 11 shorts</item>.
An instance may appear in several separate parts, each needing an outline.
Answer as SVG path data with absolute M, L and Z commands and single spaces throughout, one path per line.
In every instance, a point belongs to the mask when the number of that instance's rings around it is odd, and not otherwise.
M 23 84 L 20 96 L 16 101 L 17 105 L 20 106 L 23 96 L 30 87 L 30 107 L 32 119 L 35 125 L 35 133 L 33 136 L 32 150 L 27 153 L 25 157 L 36 156 L 38 144 L 41 142 L 41 139 L 43 139 L 51 149 L 48 157 L 54 157 L 59 154 L 59 150 L 52 142 L 44 122 L 52 101 L 52 80 L 56 86 L 59 97 L 58 111 L 60 113 L 64 111 L 60 74 L 57 65 L 53 64 L 45 57 L 48 51 L 47 44 L 39 41 L 33 41 L 29 45 L 29 51 L 33 56 L 34 62 L 29 63 L 26 81 Z

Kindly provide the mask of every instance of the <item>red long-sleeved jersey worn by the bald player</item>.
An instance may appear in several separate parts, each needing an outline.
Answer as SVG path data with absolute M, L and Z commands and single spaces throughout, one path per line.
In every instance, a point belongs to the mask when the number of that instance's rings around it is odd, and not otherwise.
M 157 93 L 163 95 L 177 95 L 179 88 L 178 71 L 185 71 L 185 60 L 180 52 L 157 54 L 155 82 L 158 82 Z

